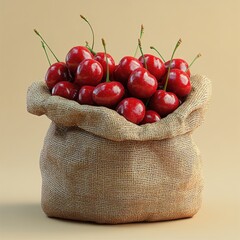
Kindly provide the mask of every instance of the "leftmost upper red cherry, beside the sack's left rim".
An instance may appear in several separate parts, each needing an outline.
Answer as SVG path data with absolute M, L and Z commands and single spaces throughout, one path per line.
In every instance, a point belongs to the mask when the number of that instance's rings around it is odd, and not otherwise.
M 64 62 L 57 62 L 52 64 L 45 75 L 45 82 L 47 87 L 52 90 L 53 87 L 61 81 L 69 81 L 70 75 L 67 65 Z

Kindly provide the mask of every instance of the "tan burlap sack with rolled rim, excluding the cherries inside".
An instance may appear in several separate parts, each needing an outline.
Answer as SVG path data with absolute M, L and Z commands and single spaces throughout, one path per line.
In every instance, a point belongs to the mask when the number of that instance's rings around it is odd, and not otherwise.
M 52 120 L 40 157 L 44 212 L 110 224 L 192 217 L 203 188 L 192 132 L 203 122 L 211 83 L 200 75 L 191 82 L 174 113 L 143 126 L 33 83 L 28 111 Z

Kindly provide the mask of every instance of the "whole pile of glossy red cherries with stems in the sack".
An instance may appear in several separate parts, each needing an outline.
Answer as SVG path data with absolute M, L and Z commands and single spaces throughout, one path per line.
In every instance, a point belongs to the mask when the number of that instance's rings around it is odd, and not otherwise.
M 61 96 L 80 104 L 104 106 L 116 110 L 128 121 L 146 124 L 159 121 L 172 113 L 186 99 L 191 91 L 189 67 L 183 59 L 174 59 L 174 53 L 181 43 L 177 42 L 171 59 L 165 61 L 152 54 L 143 54 L 141 37 L 137 49 L 140 58 L 124 56 L 118 64 L 106 52 L 102 39 L 103 52 L 94 52 L 94 32 L 88 20 L 81 15 L 91 28 L 93 41 L 90 47 L 76 46 L 70 49 L 65 62 L 60 62 L 46 41 L 41 38 L 42 47 L 50 67 L 45 82 L 52 95 Z M 51 51 L 56 63 L 51 64 L 45 46 Z

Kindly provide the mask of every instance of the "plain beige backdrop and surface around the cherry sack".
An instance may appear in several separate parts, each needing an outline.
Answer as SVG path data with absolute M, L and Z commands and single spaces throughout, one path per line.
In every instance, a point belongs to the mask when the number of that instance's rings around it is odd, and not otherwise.
M 30 1 L 0 0 L 0 239 L 239 239 L 240 1 Z M 134 53 L 140 25 L 143 48 L 166 58 L 201 52 L 193 73 L 208 76 L 213 97 L 205 123 L 194 133 L 204 161 L 203 206 L 192 219 L 103 226 L 48 219 L 40 208 L 39 154 L 50 121 L 26 111 L 26 91 L 48 64 L 33 28 L 64 60 L 91 41 L 85 15 L 105 38 L 116 62 Z

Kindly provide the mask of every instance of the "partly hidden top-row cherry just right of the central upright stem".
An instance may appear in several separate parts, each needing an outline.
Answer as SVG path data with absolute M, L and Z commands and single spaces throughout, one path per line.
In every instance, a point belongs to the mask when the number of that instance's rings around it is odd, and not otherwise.
M 142 67 L 142 63 L 138 61 L 138 59 L 125 56 L 120 60 L 118 66 L 115 68 L 114 79 L 121 82 L 123 85 L 126 85 L 131 73 L 140 67 Z

